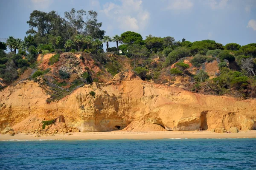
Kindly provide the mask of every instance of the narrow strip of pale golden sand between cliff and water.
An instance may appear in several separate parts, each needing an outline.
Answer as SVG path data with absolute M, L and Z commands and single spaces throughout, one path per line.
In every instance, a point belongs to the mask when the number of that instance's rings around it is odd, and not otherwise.
M 70 135 L 71 134 L 71 135 Z M 215 133 L 211 131 L 149 131 L 149 132 L 77 132 L 35 137 L 37 134 L 18 133 L 14 136 L 0 134 L 0 141 L 10 140 L 113 140 L 113 139 L 225 139 L 256 138 L 256 130 L 239 133 Z

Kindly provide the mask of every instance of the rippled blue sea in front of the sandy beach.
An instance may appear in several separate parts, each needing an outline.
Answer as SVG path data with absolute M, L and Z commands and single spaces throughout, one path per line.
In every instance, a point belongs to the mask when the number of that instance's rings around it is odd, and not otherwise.
M 256 138 L 0 141 L 1 170 L 256 170 Z

